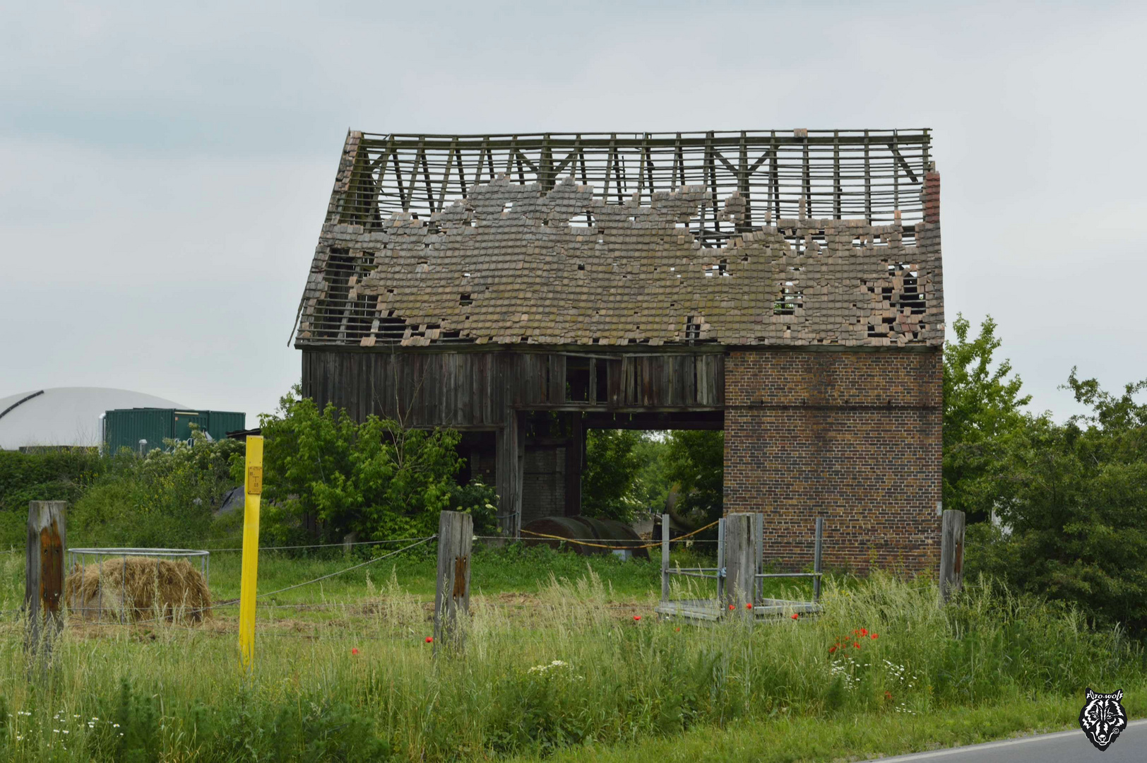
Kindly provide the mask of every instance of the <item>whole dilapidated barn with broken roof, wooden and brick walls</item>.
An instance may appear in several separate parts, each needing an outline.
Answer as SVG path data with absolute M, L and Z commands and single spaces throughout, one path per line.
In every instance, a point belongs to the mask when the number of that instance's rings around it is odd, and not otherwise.
M 725 431 L 765 552 L 937 550 L 944 301 L 927 130 L 351 132 L 303 392 L 463 433 L 504 528 L 577 514 L 588 428 Z

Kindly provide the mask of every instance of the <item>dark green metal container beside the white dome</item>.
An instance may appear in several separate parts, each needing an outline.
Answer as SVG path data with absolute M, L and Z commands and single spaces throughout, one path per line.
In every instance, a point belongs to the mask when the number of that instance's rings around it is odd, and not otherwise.
M 212 439 L 223 439 L 227 433 L 247 428 L 247 414 L 181 408 L 108 411 L 103 414 L 104 452 L 118 453 L 124 447 L 135 453 L 146 453 L 157 447 L 167 449 L 170 443 L 164 441 L 190 441 L 192 425 Z

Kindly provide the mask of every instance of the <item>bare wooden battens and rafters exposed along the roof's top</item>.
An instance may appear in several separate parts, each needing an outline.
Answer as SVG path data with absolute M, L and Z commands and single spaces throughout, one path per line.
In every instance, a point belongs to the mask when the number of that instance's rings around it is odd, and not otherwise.
M 352 172 L 365 193 L 340 218 L 367 225 L 377 224 L 377 215 L 440 211 L 498 172 L 518 184 L 539 182 L 543 190 L 572 174 L 615 203 L 633 193 L 648 202 L 653 193 L 685 185 L 703 185 L 713 198 L 735 190 L 748 207 L 747 227 L 764 225 L 766 210 L 773 219 L 797 217 L 801 196 L 809 217 L 881 224 L 899 210 L 912 225 L 922 217 L 918 195 L 931 161 L 928 129 L 360 134 Z M 420 184 L 424 188 L 416 189 Z M 763 205 L 759 212 L 755 204 Z M 727 236 L 695 233 L 715 244 Z

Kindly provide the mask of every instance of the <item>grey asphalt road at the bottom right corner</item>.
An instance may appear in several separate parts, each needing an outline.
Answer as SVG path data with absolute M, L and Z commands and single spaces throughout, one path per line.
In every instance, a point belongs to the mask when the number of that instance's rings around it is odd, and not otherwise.
M 1144 763 L 1147 761 L 1147 719 L 1132 721 L 1105 752 L 1099 752 L 1083 732 L 1061 731 L 1054 734 L 1022 737 L 1001 742 L 950 747 L 930 753 L 882 757 L 884 763 L 929 761 L 935 763 Z

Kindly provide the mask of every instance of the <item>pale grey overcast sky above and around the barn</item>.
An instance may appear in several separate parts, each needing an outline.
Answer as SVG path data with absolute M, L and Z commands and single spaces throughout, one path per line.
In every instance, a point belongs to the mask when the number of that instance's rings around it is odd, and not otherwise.
M 348 127 L 931 127 L 947 322 L 1147 376 L 1147 3 L 0 7 L 0 397 L 273 410 Z

